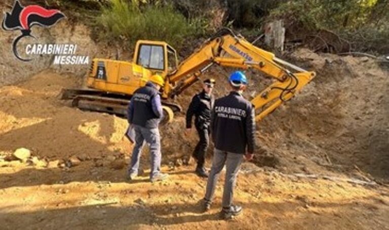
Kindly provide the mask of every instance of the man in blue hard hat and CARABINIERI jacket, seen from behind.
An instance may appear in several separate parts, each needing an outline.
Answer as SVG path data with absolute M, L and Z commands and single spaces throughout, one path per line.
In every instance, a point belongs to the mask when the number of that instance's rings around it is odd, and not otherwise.
M 242 95 L 247 86 L 247 78 L 244 73 L 237 71 L 230 75 L 229 84 L 232 91 L 218 98 L 212 110 L 211 134 L 215 149 L 205 198 L 202 201 L 204 211 L 208 211 L 217 179 L 225 165 L 221 210 L 225 219 L 242 212 L 242 207 L 232 204 L 232 196 L 243 157 L 251 160 L 255 147 L 255 110 Z

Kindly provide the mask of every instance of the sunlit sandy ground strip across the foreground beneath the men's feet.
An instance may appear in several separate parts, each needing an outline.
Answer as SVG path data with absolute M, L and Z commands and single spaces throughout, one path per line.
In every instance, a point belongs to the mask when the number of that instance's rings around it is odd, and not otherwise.
M 244 168 L 253 168 L 244 165 Z M 147 174 L 123 180 L 125 169 L 69 170 L 3 167 L 0 177 L 2 229 L 388 229 L 389 190 L 330 180 L 299 179 L 276 171 L 243 170 L 235 203 L 244 213 L 219 219 L 222 181 L 212 209 L 198 201 L 206 181 L 192 167 L 169 170 L 166 182 Z

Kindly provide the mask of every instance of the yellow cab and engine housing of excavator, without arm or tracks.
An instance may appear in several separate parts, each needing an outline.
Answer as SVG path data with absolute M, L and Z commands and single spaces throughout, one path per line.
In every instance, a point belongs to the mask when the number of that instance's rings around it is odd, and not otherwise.
M 102 92 L 131 96 L 151 75 L 171 75 L 177 71 L 177 52 L 166 42 L 139 40 L 133 61 L 94 58 L 87 87 Z M 166 84 L 169 87 L 169 84 Z

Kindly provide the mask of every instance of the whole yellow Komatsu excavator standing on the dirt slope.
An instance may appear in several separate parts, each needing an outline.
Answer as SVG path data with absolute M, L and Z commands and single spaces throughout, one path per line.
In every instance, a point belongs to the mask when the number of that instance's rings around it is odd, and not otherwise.
M 166 42 L 147 40 L 136 43 L 133 62 L 95 58 L 88 74 L 88 89 L 64 89 L 62 99 L 72 100 L 72 106 L 83 110 L 126 116 L 134 91 L 159 73 L 165 79 L 161 89 L 165 122 L 172 121 L 181 108 L 169 99 L 198 81 L 213 64 L 253 68 L 274 78 L 251 100 L 257 121 L 290 100 L 316 75 L 254 46 L 230 29 L 222 29 L 181 63 Z

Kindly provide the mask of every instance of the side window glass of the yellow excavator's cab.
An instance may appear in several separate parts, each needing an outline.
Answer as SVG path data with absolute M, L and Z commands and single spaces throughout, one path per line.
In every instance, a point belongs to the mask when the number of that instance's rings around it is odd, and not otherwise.
M 140 45 L 136 63 L 147 69 L 164 70 L 164 47 L 160 45 Z

